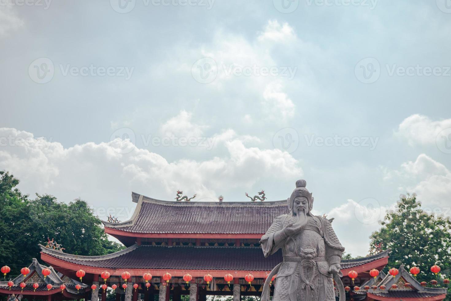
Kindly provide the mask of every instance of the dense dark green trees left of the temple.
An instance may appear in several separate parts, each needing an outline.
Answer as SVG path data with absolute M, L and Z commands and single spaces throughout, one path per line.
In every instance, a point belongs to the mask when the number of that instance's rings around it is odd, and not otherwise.
M 45 245 L 47 237 L 76 255 L 106 255 L 123 249 L 108 240 L 101 220 L 85 201 L 65 204 L 49 194 L 29 199 L 16 188 L 18 184 L 13 175 L 0 171 L 0 264 L 9 265 L 9 277 L 17 276 L 33 257 L 39 259 L 38 244 Z

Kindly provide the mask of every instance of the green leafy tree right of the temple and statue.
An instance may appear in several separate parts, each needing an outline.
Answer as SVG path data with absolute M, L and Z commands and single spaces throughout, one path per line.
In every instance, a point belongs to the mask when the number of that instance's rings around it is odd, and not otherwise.
M 430 270 L 432 265 L 437 264 L 442 268 L 442 277 L 450 275 L 449 218 L 426 213 L 421 203 L 417 202 L 416 195 L 407 194 L 400 198 L 394 210 L 387 212 L 381 225 L 381 229 L 370 236 L 370 252 L 374 252 L 375 245 L 380 242 L 384 248 L 391 248 L 387 270 L 399 268 L 400 264 L 405 264 L 407 269 L 418 266 L 419 281 L 436 279 L 442 284 L 442 280 L 437 278 L 440 275 L 433 275 Z

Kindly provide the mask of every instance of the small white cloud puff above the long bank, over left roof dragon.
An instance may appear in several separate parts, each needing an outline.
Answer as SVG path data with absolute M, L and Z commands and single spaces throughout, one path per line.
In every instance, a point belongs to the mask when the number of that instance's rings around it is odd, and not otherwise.
M 203 131 L 208 126 L 194 124 L 191 122 L 192 117 L 191 112 L 182 110 L 179 115 L 170 118 L 161 125 L 161 132 L 167 137 L 202 137 Z

